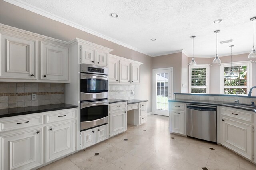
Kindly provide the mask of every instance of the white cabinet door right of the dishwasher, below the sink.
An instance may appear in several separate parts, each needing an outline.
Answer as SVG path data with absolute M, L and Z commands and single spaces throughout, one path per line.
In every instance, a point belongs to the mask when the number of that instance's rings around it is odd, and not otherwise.
M 221 117 L 221 143 L 244 157 L 252 159 L 252 125 Z

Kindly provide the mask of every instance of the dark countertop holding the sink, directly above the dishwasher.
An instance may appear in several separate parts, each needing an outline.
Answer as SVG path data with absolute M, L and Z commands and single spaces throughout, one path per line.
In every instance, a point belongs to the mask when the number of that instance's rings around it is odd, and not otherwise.
M 211 100 L 191 100 L 191 99 L 176 99 L 176 100 L 172 99 L 172 100 L 168 100 L 168 102 L 182 102 L 182 103 L 190 103 L 190 104 L 218 105 L 218 106 L 226 106 L 226 107 L 232 107 L 232 108 L 236 108 L 236 109 L 254 111 L 254 109 L 226 104 L 226 103 L 234 103 L 234 102 L 211 101 Z

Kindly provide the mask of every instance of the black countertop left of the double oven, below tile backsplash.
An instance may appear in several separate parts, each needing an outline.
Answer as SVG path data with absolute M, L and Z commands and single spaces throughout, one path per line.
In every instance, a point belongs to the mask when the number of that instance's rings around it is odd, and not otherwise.
M 78 106 L 62 103 L 62 104 L 47 104 L 47 105 L 40 105 L 40 106 L 0 109 L 0 118 L 10 117 L 10 116 L 18 116 L 18 115 L 27 115 L 27 114 L 32 114 L 32 113 L 41 113 L 41 112 L 46 112 L 46 111 L 71 109 L 71 108 L 76 108 L 76 107 L 78 107 Z

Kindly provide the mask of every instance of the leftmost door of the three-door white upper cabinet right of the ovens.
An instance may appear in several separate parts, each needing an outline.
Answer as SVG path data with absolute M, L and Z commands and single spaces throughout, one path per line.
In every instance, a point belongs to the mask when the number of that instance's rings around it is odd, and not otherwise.
M 118 83 L 119 60 L 109 57 L 108 59 L 108 82 Z

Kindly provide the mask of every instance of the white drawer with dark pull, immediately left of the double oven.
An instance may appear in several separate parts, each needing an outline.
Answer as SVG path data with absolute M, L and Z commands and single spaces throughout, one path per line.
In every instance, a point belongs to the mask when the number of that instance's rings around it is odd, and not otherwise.
M 56 122 L 56 121 L 63 121 L 67 119 L 72 119 L 76 117 L 76 111 L 60 111 L 59 113 L 48 114 L 46 115 L 46 123 Z

